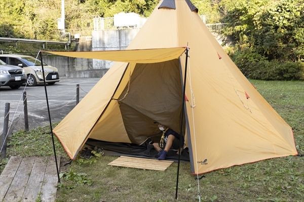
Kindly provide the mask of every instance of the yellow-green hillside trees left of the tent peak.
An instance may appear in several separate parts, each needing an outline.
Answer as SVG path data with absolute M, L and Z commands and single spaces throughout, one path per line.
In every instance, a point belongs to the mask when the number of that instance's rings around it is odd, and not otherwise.
M 94 17 L 134 12 L 148 17 L 159 0 L 65 0 L 65 28 L 93 28 Z M 0 37 L 61 40 L 57 20 L 61 18 L 58 0 L 0 1 Z

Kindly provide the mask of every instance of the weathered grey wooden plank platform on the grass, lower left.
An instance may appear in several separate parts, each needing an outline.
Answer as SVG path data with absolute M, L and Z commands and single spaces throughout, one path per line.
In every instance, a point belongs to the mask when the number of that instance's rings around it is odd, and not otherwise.
M 57 157 L 59 165 L 60 157 Z M 54 157 L 11 157 L 0 175 L 0 201 L 55 201 L 58 177 Z

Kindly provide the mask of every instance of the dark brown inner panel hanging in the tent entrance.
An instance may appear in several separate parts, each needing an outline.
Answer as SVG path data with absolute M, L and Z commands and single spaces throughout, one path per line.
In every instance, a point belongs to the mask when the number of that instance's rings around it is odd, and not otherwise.
M 118 100 L 124 125 L 133 143 L 141 144 L 157 134 L 158 121 L 179 131 L 182 89 L 178 59 L 154 64 L 136 64 L 128 85 Z

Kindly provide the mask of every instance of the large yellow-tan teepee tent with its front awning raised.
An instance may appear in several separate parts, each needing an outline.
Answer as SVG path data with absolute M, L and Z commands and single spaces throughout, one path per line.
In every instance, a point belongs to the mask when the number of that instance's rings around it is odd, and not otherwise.
M 142 144 L 159 133 L 154 121 L 180 133 L 187 45 L 183 128 L 192 173 L 297 155 L 291 127 L 226 55 L 192 3 L 166 0 L 127 51 L 50 52 L 120 61 L 53 130 L 69 157 L 88 138 Z

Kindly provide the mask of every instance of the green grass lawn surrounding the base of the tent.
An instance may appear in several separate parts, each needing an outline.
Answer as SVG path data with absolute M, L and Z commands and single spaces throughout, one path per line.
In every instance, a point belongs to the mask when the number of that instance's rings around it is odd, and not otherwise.
M 260 94 L 293 128 L 300 155 L 304 155 L 304 82 L 251 80 Z M 56 125 L 56 124 L 54 124 Z M 8 157 L 53 155 L 49 127 L 9 139 Z M 177 163 L 165 172 L 111 167 L 117 157 L 77 159 L 70 166 L 56 139 L 62 157 L 63 178 L 59 201 L 174 201 Z M 7 161 L 7 160 L 6 160 Z M 5 162 L 1 164 L 1 171 Z M 202 175 L 200 175 L 201 177 Z M 304 157 L 290 156 L 234 166 L 204 174 L 196 180 L 188 163 L 180 164 L 178 201 L 304 201 Z

